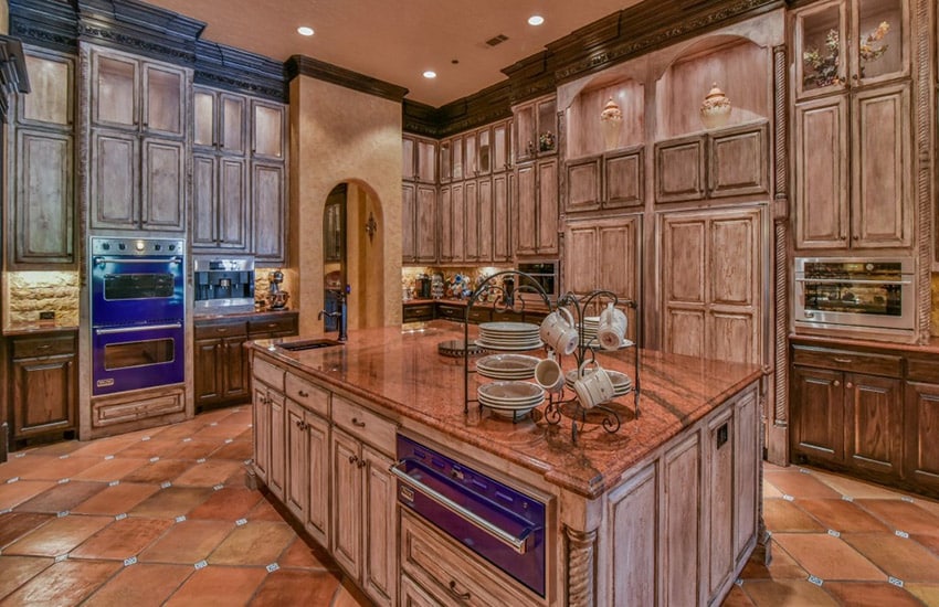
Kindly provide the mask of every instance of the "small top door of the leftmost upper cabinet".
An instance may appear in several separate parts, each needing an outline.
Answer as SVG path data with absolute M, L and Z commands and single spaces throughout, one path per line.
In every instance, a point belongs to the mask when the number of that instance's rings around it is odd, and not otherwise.
M 71 126 L 74 116 L 75 64 L 70 57 L 30 51 L 25 56 L 30 94 L 20 95 L 21 124 Z

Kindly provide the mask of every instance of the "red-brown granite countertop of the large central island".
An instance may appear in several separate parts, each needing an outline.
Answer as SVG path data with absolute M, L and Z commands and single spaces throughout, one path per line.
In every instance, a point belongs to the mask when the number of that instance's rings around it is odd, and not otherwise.
M 471 328 L 471 338 L 474 331 L 475 327 Z M 640 417 L 635 418 L 630 394 L 612 405 L 623 420 L 619 432 L 609 434 L 589 419 L 574 445 L 571 419 L 565 415 L 560 425 L 548 424 L 545 405 L 516 424 L 488 411 L 477 414 L 475 403 L 470 405 L 474 413 L 464 414 L 463 359 L 437 353 L 440 342 L 463 339 L 462 328 L 447 322 L 428 323 L 420 331 L 386 327 L 352 331 L 345 345 L 298 352 L 275 347 L 309 338 L 260 340 L 253 348 L 325 385 L 386 407 L 404 427 L 408 419 L 418 420 L 589 498 L 602 494 L 610 481 L 762 375 L 757 365 L 642 351 Z M 635 351 L 624 349 L 599 360 L 635 382 Z M 535 354 L 544 355 L 544 351 Z M 565 370 L 572 369 L 573 356 L 561 363 Z M 471 398 L 475 398 L 477 382 L 487 381 L 471 375 Z

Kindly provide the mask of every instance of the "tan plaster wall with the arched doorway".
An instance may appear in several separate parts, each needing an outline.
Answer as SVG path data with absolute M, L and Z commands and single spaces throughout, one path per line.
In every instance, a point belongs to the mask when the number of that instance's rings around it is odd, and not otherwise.
M 401 322 L 401 104 L 308 76 L 291 82 L 291 268 L 300 334 L 320 332 L 323 212 L 350 184 L 349 329 Z M 373 212 L 378 231 L 365 224 Z

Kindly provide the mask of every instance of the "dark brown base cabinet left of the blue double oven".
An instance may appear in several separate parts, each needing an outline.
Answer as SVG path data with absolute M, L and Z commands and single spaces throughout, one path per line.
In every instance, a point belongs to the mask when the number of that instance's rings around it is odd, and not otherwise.
M 9 340 L 11 447 L 33 438 L 74 438 L 77 428 L 77 334 L 33 333 Z

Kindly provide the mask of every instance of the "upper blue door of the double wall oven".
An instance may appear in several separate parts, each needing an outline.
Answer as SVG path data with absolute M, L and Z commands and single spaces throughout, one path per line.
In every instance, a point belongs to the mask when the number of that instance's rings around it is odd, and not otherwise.
M 96 327 L 184 317 L 182 257 L 92 260 L 92 323 Z

